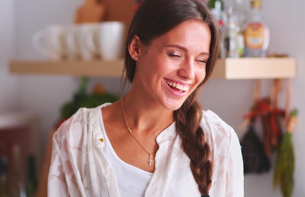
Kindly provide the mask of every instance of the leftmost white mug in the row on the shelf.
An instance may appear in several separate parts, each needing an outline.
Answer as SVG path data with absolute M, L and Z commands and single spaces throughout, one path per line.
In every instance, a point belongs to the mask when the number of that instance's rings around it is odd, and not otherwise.
M 66 56 L 64 46 L 64 25 L 49 25 L 33 34 L 32 43 L 36 52 L 50 60 L 60 60 Z

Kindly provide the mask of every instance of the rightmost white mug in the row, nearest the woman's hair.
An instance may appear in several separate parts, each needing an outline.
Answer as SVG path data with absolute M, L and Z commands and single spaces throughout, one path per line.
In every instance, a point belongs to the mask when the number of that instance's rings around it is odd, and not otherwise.
M 98 30 L 88 32 L 86 45 L 99 54 L 103 60 L 115 60 L 123 56 L 125 25 L 120 21 L 106 21 L 98 25 Z

